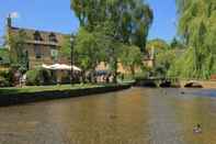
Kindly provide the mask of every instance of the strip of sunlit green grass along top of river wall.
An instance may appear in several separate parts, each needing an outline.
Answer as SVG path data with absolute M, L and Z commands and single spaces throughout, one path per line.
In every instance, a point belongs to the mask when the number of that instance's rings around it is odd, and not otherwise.
M 122 84 L 124 85 L 124 84 Z M 106 85 L 56 85 L 56 86 L 26 86 L 22 88 L 0 88 L 0 96 L 1 95 L 11 95 L 11 93 L 34 93 L 34 92 L 44 92 L 44 91 L 65 91 L 65 90 L 72 90 L 72 89 L 87 89 L 87 88 L 100 88 L 100 87 L 111 87 L 116 86 L 114 84 L 106 84 Z

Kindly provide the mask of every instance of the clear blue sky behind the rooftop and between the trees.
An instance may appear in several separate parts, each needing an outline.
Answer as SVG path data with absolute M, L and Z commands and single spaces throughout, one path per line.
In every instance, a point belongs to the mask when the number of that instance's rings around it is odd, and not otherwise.
M 171 41 L 175 35 L 175 0 L 148 0 L 155 12 L 149 38 Z M 4 33 L 5 18 L 16 12 L 13 25 L 20 27 L 76 32 L 79 22 L 70 10 L 70 0 L 3 0 L 0 5 L 0 36 Z

